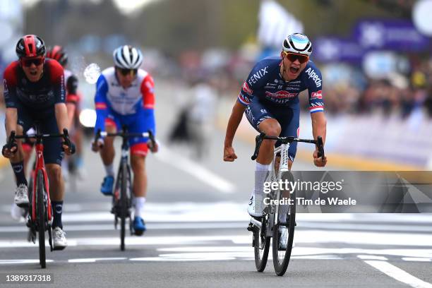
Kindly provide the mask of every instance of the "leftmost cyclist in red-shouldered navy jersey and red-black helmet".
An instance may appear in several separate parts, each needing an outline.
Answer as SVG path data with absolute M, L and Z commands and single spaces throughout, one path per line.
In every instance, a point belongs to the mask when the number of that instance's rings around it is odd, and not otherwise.
M 59 133 L 68 128 L 65 104 L 64 70 L 52 59 L 45 59 L 44 41 L 37 35 L 25 35 L 16 44 L 18 61 L 13 61 L 4 71 L 4 102 L 6 103 L 6 135 L 11 131 L 18 135 L 28 131 L 35 122 L 42 133 Z M 49 193 L 52 200 L 54 220 L 52 222 L 53 246 L 67 246 L 61 215 L 63 211 L 64 181 L 61 177 L 61 160 L 64 153 L 71 155 L 75 145 L 62 143 L 59 138 L 44 140 L 44 162 L 49 177 Z M 24 174 L 23 148 L 21 141 L 7 144 L 1 150 L 9 158 L 16 176 L 14 202 L 25 207 L 29 204 L 28 183 Z

